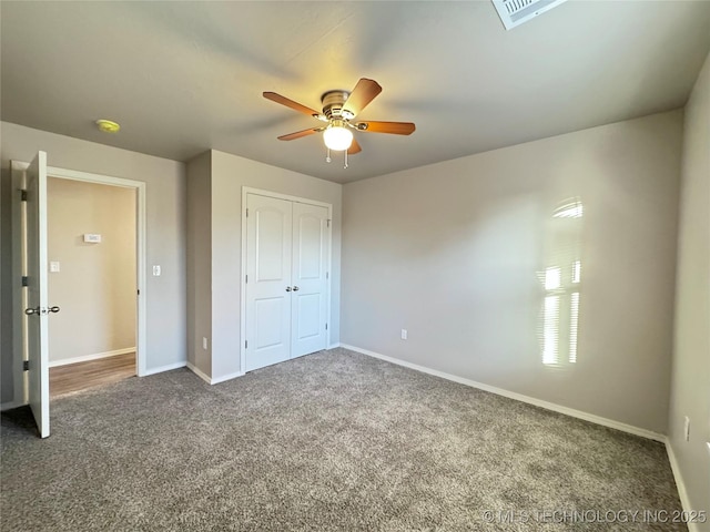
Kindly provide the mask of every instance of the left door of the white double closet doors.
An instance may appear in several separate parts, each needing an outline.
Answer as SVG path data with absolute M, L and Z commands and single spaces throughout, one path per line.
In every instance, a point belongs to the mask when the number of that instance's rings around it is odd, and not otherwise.
M 245 371 L 291 357 L 293 204 L 246 196 Z

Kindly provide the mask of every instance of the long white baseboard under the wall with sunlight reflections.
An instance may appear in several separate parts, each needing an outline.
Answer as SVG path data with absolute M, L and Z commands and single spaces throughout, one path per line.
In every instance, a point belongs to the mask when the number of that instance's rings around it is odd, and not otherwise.
M 368 349 L 363 349 L 361 347 L 351 346 L 347 344 L 341 344 L 341 347 L 345 349 L 349 349 L 351 351 L 356 351 L 363 355 L 367 355 L 368 357 L 378 358 L 387 362 L 396 364 L 398 366 L 404 366 L 405 368 L 414 369 L 416 371 L 422 371 L 424 374 L 434 375 L 435 377 L 440 377 L 446 380 L 452 380 L 460 385 L 470 386 L 471 388 L 478 388 L 479 390 L 489 391 L 498 396 L 507 397 L 508 399 L 515 399 L 516 401 L 527 402 L 528 405 L 534 405 L 536 407 L 545 408 L 546 410 L 552 410 L 555 412 L 564 413 L 565 416 L 584 419 L 585 421 L 590 421 L 592 423 L 601 424 L 604 427 L 609 427 L 611 429 L 620 430 L 622 432 L 628 432 L 630 434 L 648 438 L 650 440 L 660 441 L 661 443 L 666 442 L 666 436 L 659 434 L 658 432 L 653 432 L 651 430 L 641 429 L 640 427 L 633 427 L 632 424 L 615 421 L 613 419 L 602 418 L 601 416 L 596 416 L 594 413 L 582 412 L 581 410 L 575 410 L 574 408 L 562 407 L 561 405 L 556 405 L 554 402 L 544 401 L 541 399 L 536 399 L 534 397 L 524 396 L 523 393 L 516 393 L 515 391 L 508 391 L 503 388 L 496 388 L 495 386 L 484 385 L 483 382 L 477 382 L 475 380 L 466 379 L 464 377 L 446 374 L 444 371 L 427 368 L 426 366 L 419 366 L 417 364 L 407 362 L 405 360 L 388 357 L 386 355 L 381 355 L 379 352 L 371 351 Z

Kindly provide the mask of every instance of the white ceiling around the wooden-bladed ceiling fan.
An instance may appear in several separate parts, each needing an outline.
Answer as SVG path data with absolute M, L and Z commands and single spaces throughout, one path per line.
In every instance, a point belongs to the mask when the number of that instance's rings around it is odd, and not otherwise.
M 0 3 L 1 116 L 187 161 L 215 149 L 345 183 L 682 106 L 710 49 L 709 1 L 569 1 L 506 31 L 474 2 Z M 324 162 L 317 126 L 262 98 L 321 109 L 359 78 L 358 116 L 412 136 L 356 133 Z M 116 135 L 93 122 L 121 123 Z

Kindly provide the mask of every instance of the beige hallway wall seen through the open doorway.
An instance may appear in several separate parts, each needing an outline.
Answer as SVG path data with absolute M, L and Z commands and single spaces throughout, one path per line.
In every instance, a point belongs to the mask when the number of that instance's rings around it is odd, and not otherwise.
M 135 191 L 52 178 L 47 184 L 50 364 L 135 349 Z M 100 244 L 83 242 L 98 233 Z M 81 334 L 77 329 L 81 328 Z

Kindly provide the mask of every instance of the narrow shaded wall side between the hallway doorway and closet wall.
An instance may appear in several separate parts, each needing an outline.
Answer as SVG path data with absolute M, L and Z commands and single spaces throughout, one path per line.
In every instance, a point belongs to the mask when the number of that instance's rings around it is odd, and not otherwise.
M 207 349 L 202 346 L 207 338 Z M 187 163 L 187 361 L 212 375 L 212 156 Z

